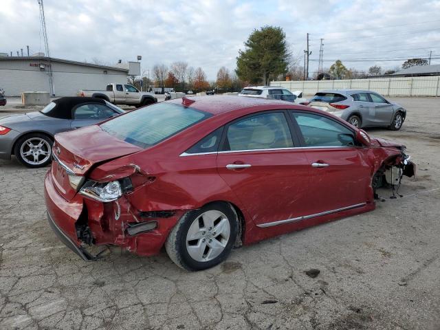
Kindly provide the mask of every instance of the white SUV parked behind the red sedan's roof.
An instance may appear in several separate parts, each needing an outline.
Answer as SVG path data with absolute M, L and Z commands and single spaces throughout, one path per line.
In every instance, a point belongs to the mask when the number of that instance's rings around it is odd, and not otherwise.
M 303 91 L 289 91 L 284 87 L 275 86 L 250 86 L 245 87 L 240 92 L 239 96 L 248 96 L 252 98 L 272 98 L 276 100 L 284 100 L 288 102 L 294 102 L 302 104 L 307 102 L 307 99 L 303 98 Z

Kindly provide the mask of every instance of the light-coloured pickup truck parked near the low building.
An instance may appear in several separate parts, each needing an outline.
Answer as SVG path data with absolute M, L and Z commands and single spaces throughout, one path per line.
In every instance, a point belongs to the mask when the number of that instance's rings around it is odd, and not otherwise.
M 146 91 L 138 91 L 136 87 L 128 84 L 107 85 L 105 91 L 94 91 L 91 89 L 81 89 L 78 96 L 88 98 L 102 98 L 113 104 L 135 105 L 136 107 L 157 102 L 157 98 Z

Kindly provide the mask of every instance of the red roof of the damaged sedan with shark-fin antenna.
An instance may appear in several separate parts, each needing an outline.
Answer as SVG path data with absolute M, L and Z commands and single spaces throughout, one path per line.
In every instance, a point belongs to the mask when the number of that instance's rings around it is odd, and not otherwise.
M 227 95 L 215 95 L 215 96 L 190 96 L 186 97 L 186 100 L 192 100 L 189 107 L 200 111 L 212 113 L 213 115 L 219 115 L 220 113 L 257 106 L 287 106 L 292 105 L 289 102 L 281 100 L 272 100 L 267 98 L 250 98 L 247 96 L 227 96 Z M 175 104 L 182 104 L 181 98 L 175 98 L 174 100 L 167 101 Z

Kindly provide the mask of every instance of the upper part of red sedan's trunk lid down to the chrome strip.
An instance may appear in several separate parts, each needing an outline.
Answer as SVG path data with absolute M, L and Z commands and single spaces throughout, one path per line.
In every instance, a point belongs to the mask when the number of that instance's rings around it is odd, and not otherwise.
M 58 133 L 54 144 L 54 155 L 77 175 L 84 175 L 96 163 L 142 150 L 102 131 L 98 125 Z

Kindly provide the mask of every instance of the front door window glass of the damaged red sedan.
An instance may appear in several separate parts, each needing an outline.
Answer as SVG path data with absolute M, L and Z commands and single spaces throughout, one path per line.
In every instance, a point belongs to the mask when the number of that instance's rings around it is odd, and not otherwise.
M 293 113 L 305 145 L 316 146 L 354 146 L 353 132 L 342 124 L 322 115 Z

